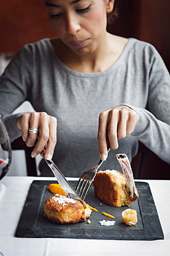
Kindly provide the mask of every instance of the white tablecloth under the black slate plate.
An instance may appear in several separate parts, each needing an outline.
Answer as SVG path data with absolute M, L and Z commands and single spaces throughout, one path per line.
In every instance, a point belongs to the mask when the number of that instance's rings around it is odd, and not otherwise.
M 53 178 L 6 176 L 1 180 L 1 183 L 6 185 L 6 190 L 0 196 L 0 252 L 4 256 L 170 255 L 170 181 L 144 180 L 150 185 L 164 232 L 164 240 L 125 241 L 14 237 L 30 184 L 35 179 L 52 180 Z

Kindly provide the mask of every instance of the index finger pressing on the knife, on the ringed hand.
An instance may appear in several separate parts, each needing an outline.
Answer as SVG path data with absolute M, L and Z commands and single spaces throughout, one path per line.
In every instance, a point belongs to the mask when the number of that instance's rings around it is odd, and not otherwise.
M 47 160 L 51 160 L 52 156 L 54 154 L 54 148 L 56 146 L 56 118 L 53 118 L 52 116 L 50 117 L 50 134 L 49 134 L 49 139 L 47 141 L 47 145 L 45 148 L 45 154 L 44 157 Z

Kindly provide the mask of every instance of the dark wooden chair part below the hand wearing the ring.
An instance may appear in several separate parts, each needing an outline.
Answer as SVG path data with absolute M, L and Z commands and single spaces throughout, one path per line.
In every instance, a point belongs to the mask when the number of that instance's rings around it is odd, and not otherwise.
M 12 150 L 24 150 L 28 176 L 37 176 L 36 161 L 31 157 L 33 147 L 27 147 L 22 138 L 17 138 L 11 143 Z

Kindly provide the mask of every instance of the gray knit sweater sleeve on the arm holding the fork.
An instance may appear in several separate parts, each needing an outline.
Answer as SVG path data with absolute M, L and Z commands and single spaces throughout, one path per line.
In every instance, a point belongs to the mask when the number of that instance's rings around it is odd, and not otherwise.
M 163 161 L 170 164 L 170 77 L 155 48 L 149 48 L 149 95 L 147 108 L 129 106 L 138 113 L 131 133 Z

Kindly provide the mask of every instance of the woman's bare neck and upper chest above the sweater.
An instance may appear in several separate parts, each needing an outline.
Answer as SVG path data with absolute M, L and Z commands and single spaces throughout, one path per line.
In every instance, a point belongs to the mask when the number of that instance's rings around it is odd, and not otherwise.
M 105 40 L 94 53 L 77 55 L 59 38 L 51 39 L 52 46 L 61 61 L 72 70 L 81 73 L 96 73 L 107 70 L 118 60 L 127 41 L 126 38 L 107 33 Z

